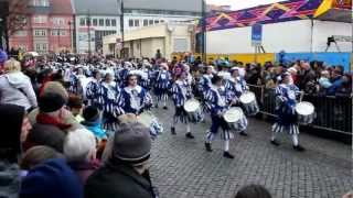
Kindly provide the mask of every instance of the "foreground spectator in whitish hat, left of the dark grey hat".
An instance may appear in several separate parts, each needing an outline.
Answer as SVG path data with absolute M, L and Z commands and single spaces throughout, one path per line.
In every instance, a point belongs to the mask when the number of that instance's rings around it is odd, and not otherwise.
M 86 129 L 79 129 L 66 135 L 64 155 L 83 185 L 99 167 L 99 162 L 96 160 L 95 135 Z

